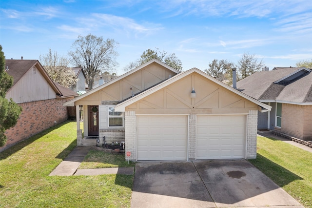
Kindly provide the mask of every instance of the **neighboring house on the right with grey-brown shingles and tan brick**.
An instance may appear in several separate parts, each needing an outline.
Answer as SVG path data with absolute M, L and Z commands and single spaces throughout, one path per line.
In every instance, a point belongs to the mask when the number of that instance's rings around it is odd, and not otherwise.
M 258 128 L 278 130 L 301 140 L 312 140 L 312 73 L 300 67 L 273 68 L 239 81 L 237 89 L 271 112 L 258 116 Z

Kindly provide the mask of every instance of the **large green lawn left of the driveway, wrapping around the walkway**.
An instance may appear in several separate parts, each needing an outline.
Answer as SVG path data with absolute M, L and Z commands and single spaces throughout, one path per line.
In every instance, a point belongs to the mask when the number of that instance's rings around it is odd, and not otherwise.
M 0 207 L 130 207 L 133 175 L 48 176 L 75 148 L 65 122 L 0 153 Z

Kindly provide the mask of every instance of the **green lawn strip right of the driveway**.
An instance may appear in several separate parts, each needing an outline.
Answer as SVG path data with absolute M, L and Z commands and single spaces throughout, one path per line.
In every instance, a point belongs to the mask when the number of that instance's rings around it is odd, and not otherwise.
M 257 159 L 250 162 L 305 208 L 312 208 L 312 153 L 258 136 Z

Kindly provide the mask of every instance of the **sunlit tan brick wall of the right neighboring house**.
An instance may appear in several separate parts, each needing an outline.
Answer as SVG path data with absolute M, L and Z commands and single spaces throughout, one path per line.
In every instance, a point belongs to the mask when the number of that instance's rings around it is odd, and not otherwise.
M 311 105 L 282 104 L 282 133 L 309 140 L 312 137 L 311 122 Z

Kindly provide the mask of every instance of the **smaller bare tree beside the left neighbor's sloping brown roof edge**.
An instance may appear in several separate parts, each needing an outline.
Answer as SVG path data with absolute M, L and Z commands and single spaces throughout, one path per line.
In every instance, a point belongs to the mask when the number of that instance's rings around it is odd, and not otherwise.
M 66 57 L 60 56 L 50 48 L 47 54 L 39 56 L 39 61 L 54 82 L 64 87 L 77 84 L 78 78 L 73 68 L 68 67 L 69 60 Z

